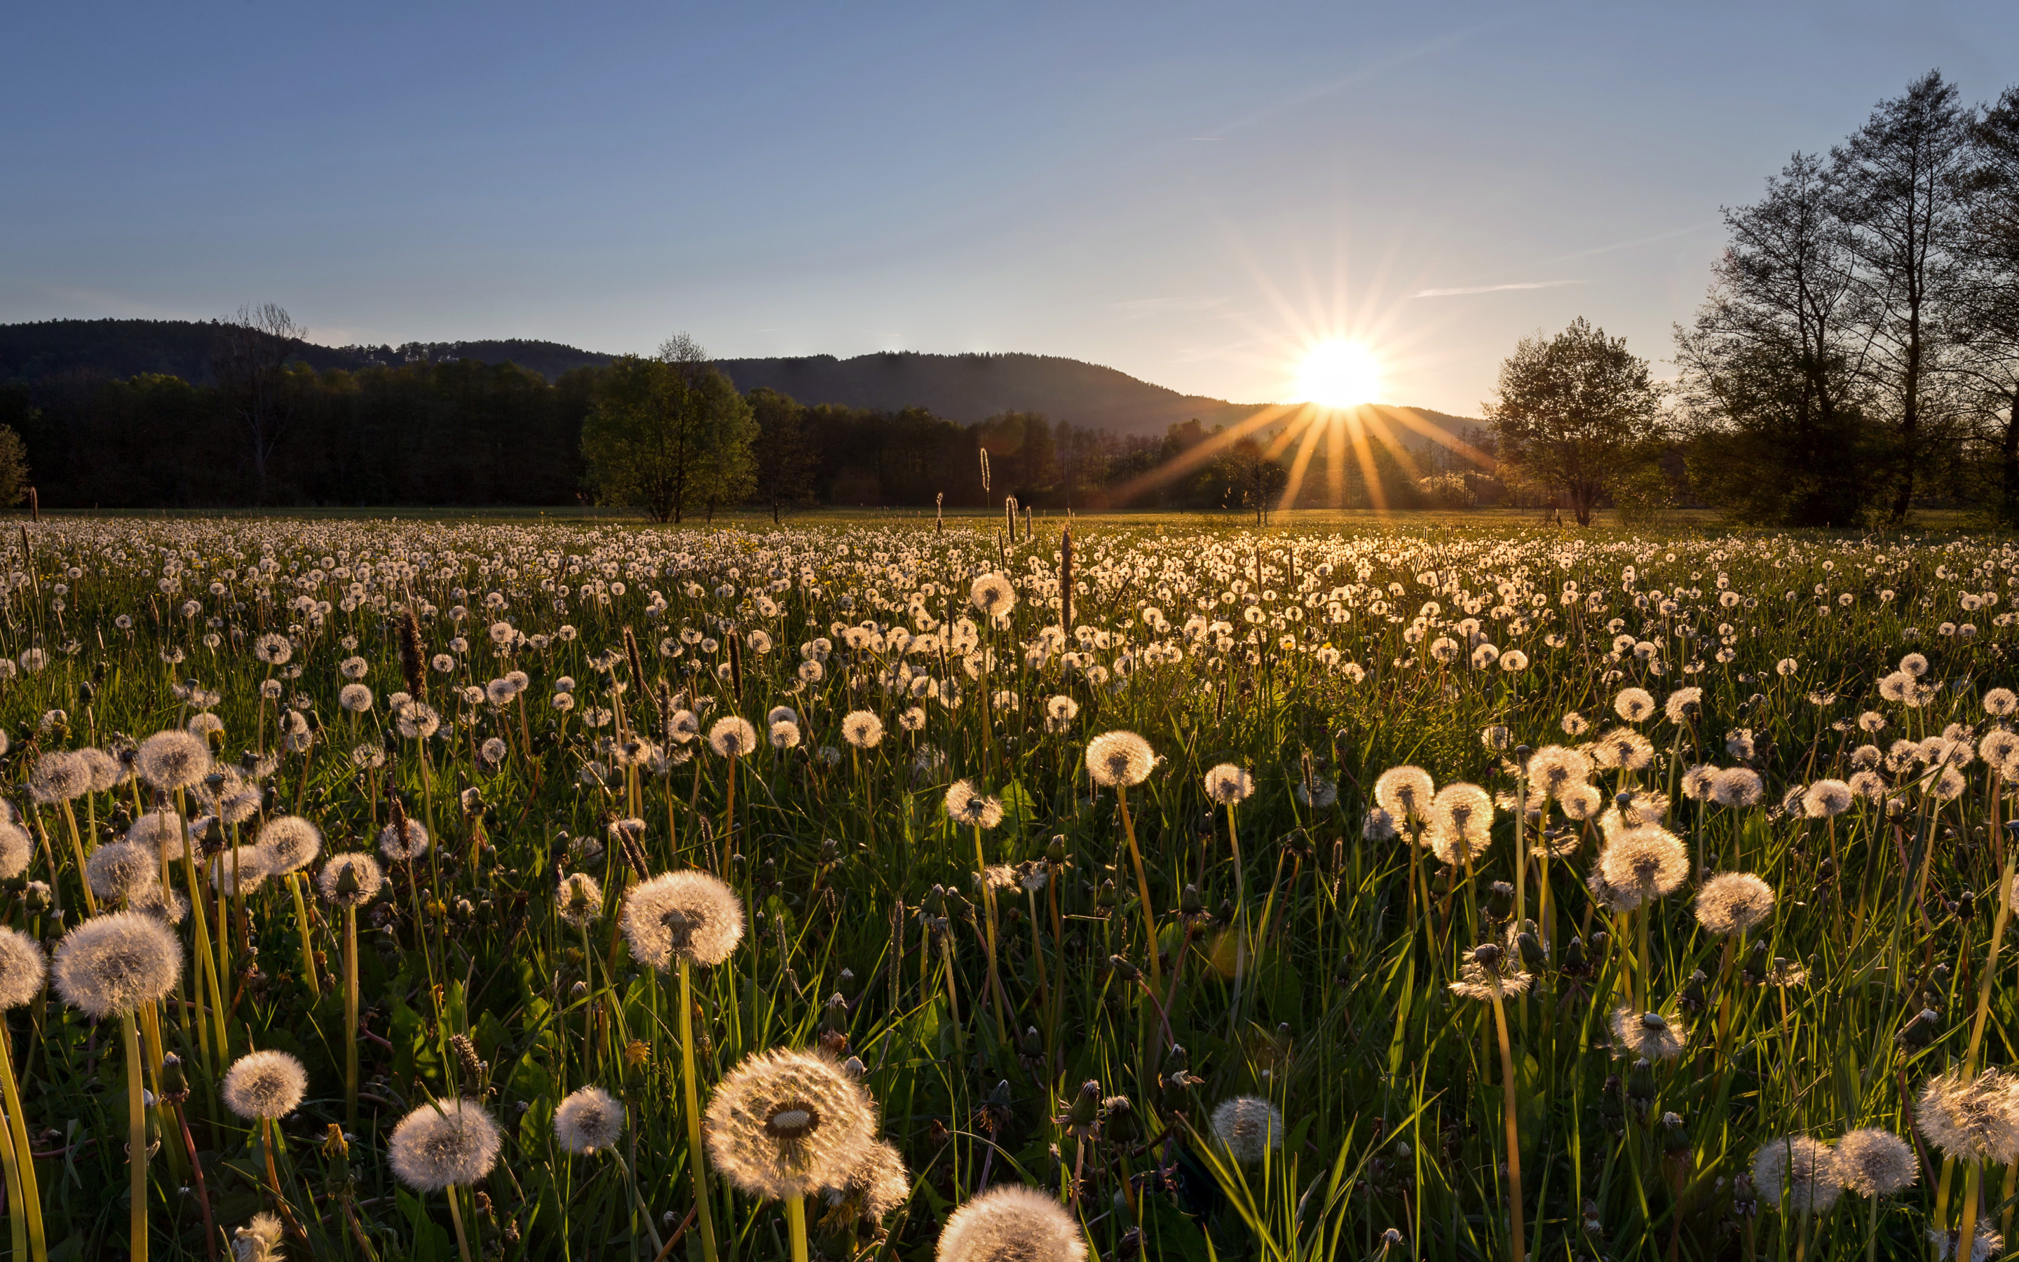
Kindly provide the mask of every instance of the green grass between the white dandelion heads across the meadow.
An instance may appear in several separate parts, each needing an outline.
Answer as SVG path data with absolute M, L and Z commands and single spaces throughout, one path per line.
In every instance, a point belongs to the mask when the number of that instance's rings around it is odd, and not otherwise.
M 1072 648 L 1084 656 L 1040 660 L 1026 646 L 1060 622 L 1056 517 L 1016 545 L 985 515 L 955 517 L 945 533 L 929 515 L 860 511 L 798 515 L 779 533 L 751 515 L 717 525 L 737 529 L 446 511 L 400 511 L 398 523 L 273 515 L 28 527 L 34 575 L 22 567 L 0 646 L 14 660 L 38 648 L 48 664 L 0 685 L 14 785 L 57 751 L 117 749 L 184 727 L 196 709 L 222 723 L 218 757 L 238 765 L 244 749 L 273 753 L 281 715 L 295 711 L 313 741 L 264 775 L 260 816 L 299 810 L 323 830 L 325 856 L 374 850 L 392 794 L 436 840 L 418 862 L 388 864 L 384 895 L 359 915 L 361 1115 L 343 1155 L 329 1143 L 345 1125 L 341 913 L 309 890 L 311 989 L 289 886 L 226 899 L 224 1012 L 188 985 L 162 1010 L 164 1042 L 182 1054 L 192 1090 L 180 1113 L 149 1113 L 162 1143 L 145 1205 L 153 1256 L 216 1256 L 230 1230 L 279 1199 L 305 1232 L 289 1256 L 363 1258 L 367 1246 L 382 1258 L 456 1256 L 448 1199 L 404 1189 L 386 1157 L 402 1115 L 452 1094 L 481 1098 L 503 1131 L 497 1167 L 462 1201 L 474 1252 L 650 1258 L 646 1220 L 660 1238 L 678 1232 L 695 1205 L 678 979 L 632 961 L 618 931 L 618 905 L 638 880 L 612 840 L 618 818 L 644 822 L 646 872 L 715 872 L 749 915 L 731 959 L 695 977 L 703 1107 L 757 1050 L 826 1048 L 862 1062 L 880 1135 L 913 1185 L 878 1222 L 846 1224 L 810 1201 L 816 1254 L 925 1260 L 983 1181 L 1070 1197 L 1078 1171 L 1072 1214 L 1100 1258 L 1373 1258 L 1391 1228 L 1403 1240 L 1391 1258 L 1508 1258 L 1510 1094 L 1524 1244 L 1536 1258 L 1859 1256 L 1872 1224 L 1878 1254 L 1906 1258 L 1926 1254 L 1932 1222 L 1956 1218 L 1964 1171 L 1952 1171 L 1938 1207 L 1934 1149 L 1930 1175 L 1886 1197 L 1876 1218 L 1845 1195 L 1807 1220 L 1805 1240 L 1803 1220 L 1775 1203 L 1742 1214 L 1734 1179 L 1785 1135 L 1833 1141 L 1882 1127 L 1910 1137 L 1914 1092 L 1964 1056 L 2007 854 L 2005 781 L 1977 757 L 1960 767 L 1964 790 L 1942 798 L 1930 792 L 1930 747 L 1880 767 L 1894 814 L 1864 798 L 1833 820 L 1779 804 L 1791 787 L 1849 777 L 1868 739 L 1884 751 L 1952 723 L 1969 731 L 1950 735 L 1973 741 L 1995 729 L 1985 697 L 2013 682 L 2011 628 L 1997 620 L 2019 573 L 1997 541 L 1765 535 L 1702 519 L 1587 533 L 1502 513 L 1290 513 L 1266 531 L 1102 515 L 1076 521 L 1084 590 L 1074 626 L 1090 634 Z M 164 571 L 164 549 L 180 571 Z M 262 555 L 277 565 L 254 577 Z M 911 652 L 884 634 L 957 628 L 985 569 L 1018 577 L 1005 626 L 973 628 L 973 644 L 955 630 L 961 642 Z M 1720 575 L 1738 596 L 1732 606 L 1720 604 Z M 57 584 L 69 590 L 59 596 Z M 721 586 L 733 592 L 719 596 Z M 1960 608 L 1987 590 L 1999 604 Z M 664 608 L 652 608 L 652 592 Z M 487 594 L 503 608 L 487 612 Z M 331 608 L 315 614 L 301 598 Z M 186 616 L 186 600 L 202 608 Z M 1664 612 L 1668 600 L 1676 608 Z M 1415 636 L 1425 602 L 1440 608 Z M 446 723 L 426 741 L 402 739 L 388 713 L 406 687 L 396 642 L 406 606 L 420 614 L 426 654 L 452 658 L 428 670 Z M 456 608 L 466 616 L 456 620 Z M 1226 630 L 1187 632 L 1195 608 Z M 1250 608 L 1260 622 L 1248 622 Z M 860 646 L 836 630 L 866 620 L 876 632 Z M 539 640 L 507 652 L 493 622 Z M 1944 622 L 1973 622 L 1977 634 L 1940 634 Z M 682 628 L 715 648 L 682 644 Z M 1264 632 L 1258 642 L 1246 640 L 1250 628 Z M 731 630 L 763 632 L 769 652 L 745 644 L 731 658 Z M 285 666 L 254 654 L 264 634 L 287 636 Z M 1518 648 L 1528 666 L 1474 666 L 1470 634 Z M 1631 636 L 1621 650 L 1617 634 Z M 456 636 L 468 644 L 452 648 Z M 818 676 L 802 670 L 802 644 L 816 638 L 832 642 Z M 1456 642 L 1456 660 L 1431 656 L 1440 638 Z M 614 658 L 598 656 L 612 648 Z M 1944 685 L 1926 705 L 1878 695 L 1908 650 L 1930 660 L 1922 682 Z M 351 656 L 376 693 L 359 717 L 337 705 L 339 664 Z M 458 697 L 509 670 L 529 676 L 519 701 L 493 709 Z M 575 680 L 571 711 L 551 705 L 563 676 Z M 188 680 L 218 701 L 192 705 L 186 689 L 172 691 Z M 279 701 L 260 697 L 269 680 Z M 1684 685 L 1702 689 L 1700 707 L 1670 723 L 1660 703 Z M 1363 836 L 1383 769 L 1415 763 L 1440 785 L 1516 794 L 1512 749 L 1490 749 L 1482 733 L 1506 727 L 1508 747 L 1571 745 L 1565 717 L 1579 713 L 1589 721 L 1581 739 L 1593 739 L 1623 725 L 1613 703 L 1629 687 L 1658 707 L 1633 725 L 1652 761 L 1597 771 L 1603 800 L 1621 790 L 1672 798 L 1666 814 L 1641 810 L 1664 820 L 1692 866 L 1700 852 L 1710 870 L 1750 870 L 1777 892 L 1771 921 L 1730 961 L 1692 915 L 1696 872 L 1641 911 L 1599 905 L 1585 878 L 1605 830 L 1567 820 L 1557 802 L 1520 824 L 1526 846 L 1549 828 L 1563 850 L 1524 866 L 1522 907 L 1494 886 L 1516 882 L 1508 808 L 1470 866 L 1411 850 L 1407 834 Z M 995 693 L 1016 705 L 995 705 Z M 1076 715 L 1048 723 L 1054 697 L 1072 699 Z M 703 731 L 725 715 L 763 729 L 767 711 L 789 707 L 800 741 L 743 759 L 731 806 L 729 761 L 705 741 L 670 737 L 662 703 L 701 709 Z M 913 707 L 919 731 L 902 725 Z M 856 709 L 886 727 L 874 749 L 844 747 L 842 717 Z M 634 777 L 612 769 L 618 719 L 594 727 L 600 711 L 622 713 L 670 757 Z M 1855 727 L 1864 713 L 1884 717 L 1878 737 Z M 1088 741 L 1112 729 L 1141 733 L 1161 757 L 1129 792 L 1127 826 L 1117 794 L 1084 763 Z M 1740 761 L 1726 749 L 1740 729 L 1765 779 L 1759 806 L 1684 798 L 1684 769 Z M 503 745 L 497 761 L 483 757 L 485 741 Z M 353 759 L 363 747 L 384 751 L 386 765 Z M 1201 777 L 1217 763 L 1254 775 L 1254 796 L 1232 818 L 1205 796 Z M 1001 804 L 1001 822 L 979 834 L 979 860 L 1020 864 L 1020 884 L 993 901 L 975 882 L 975 830 L 943 806 L 955 779 Z M 129 781 L 75 800 L 77 848 L 111 842 L 153 806 L 149 796 Z M 55 945 L 83 907 L 65 814 L 26 790 L 12 798 L 36 848 L 6 884 L 6 923 Z M 256 828 L 236 826 L 238 840 L 250 844 Z M 586 933 L 557 917 L 563 870 L 596 876 L 606 892 L 606 915 Z M 1040 878 L 1042 888 L 1022 884 Z M 212 903 L 208 931 L 218 925 Z M 1506 1002 L 1508 1092 L 1492 1004 L 1450 983 L 1476 945 L 1512 943 L 1522 929 L 1532 989 Z M 194 981 L 194 925 L 178 933 Z M 1775 957 L 1805 969 L 1803 983 L 1761 983 Z M 2009 1064 L 2011 969 L 1989 975 L 1979 1060 Z M 1007 1012 L 995 1008 L 997 981 Z M 1635 1066 L 1613 1046 L 1613 1010 L 1635 991 L 1686 1034 L 1680 1056 Z M 1924 1008 L 1936 1014 L 1932 1040 L 1902 1042 Z M 206 1060 L 200 1030 L 218 1016 L 228 1054 Z M 129 1248 L 119 1032 L 55 991 L 14 1010 L 8 1028 L 48 1252 L 119 1256 Z M 456 1038 L 481 1068 L 460 1062 Z M 309 1096 L 279 1125 L 281 1197 L 262 1189 L 254 1131 L 216 1096 L 222 1064 L 254 1048 L 291 1052 L 309 1072 Z M 1068 1113 L 1082 1082 L 1127 1096 L 1129 1117 L 1110 1105 L 1104 1131 L 1076 1131 Z M 622 1163 L 571 1157 L 555 1141 L 553 1107 L 586 1084 L 628 1109 Z M 1262 1161 L 1240 1163 L 1211 1139 L 1213 1111 L 1236 1096 L 1282 1111 Z M 1993 1228 L 2009 1218 L 2005 1179 L 2003 1167 L 1985 1175 L 1979 1222 Z M 725 1258 L 785 1256 L 777 1203 L 721 1177 L 709 1187 Z M 699 1250 L 697 1232 L 672 1246 L 686 1258 Z

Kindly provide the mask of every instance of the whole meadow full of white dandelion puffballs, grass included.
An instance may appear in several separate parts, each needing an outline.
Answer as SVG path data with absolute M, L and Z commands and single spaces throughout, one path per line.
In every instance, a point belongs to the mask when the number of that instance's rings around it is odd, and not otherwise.
M 8 1256 L 2001 1248 L 2019 549 L 1026 531 L 26 527 Z

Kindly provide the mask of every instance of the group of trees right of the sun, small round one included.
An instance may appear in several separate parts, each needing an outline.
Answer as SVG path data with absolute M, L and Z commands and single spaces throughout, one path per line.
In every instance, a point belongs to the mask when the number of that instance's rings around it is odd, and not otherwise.
M 1674 384 L 1579 319 L 1522 341 L 1486 404 L 1502 477 L 1579 521 L 1692 497 L 1757 525 L 2019 527 L 2019 89 L 1938 71 L 1724 210 Z

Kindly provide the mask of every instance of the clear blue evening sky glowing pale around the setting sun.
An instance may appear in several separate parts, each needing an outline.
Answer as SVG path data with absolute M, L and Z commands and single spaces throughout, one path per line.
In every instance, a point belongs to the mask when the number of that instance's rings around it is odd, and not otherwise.
M 1032 351 L 1476 416 L 1656 361 L 1720 208 L 2019 4 L 42 4 L 0 16 L 0 323 L 277 301 L 321 343 Z

